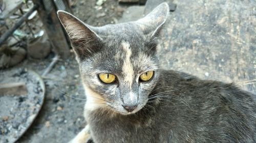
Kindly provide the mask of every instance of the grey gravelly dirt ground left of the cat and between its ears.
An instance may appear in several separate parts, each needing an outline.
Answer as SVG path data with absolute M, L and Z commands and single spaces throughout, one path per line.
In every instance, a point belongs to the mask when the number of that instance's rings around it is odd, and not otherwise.
M 116 0 L 108 0 L 101 6 L 97 6 L 96 1 L 83 0 L 77 1 L 72 10 L 84 22 L 100 26 L 116 23 L 126 7 L 120 6 Z M 51 53 L 44 60 L 28 58 L 21 64 L 2 71 L 31 69 L 41 75 L 53 57 L 54 54 Z M 79 76 L 73 53 L 70 58 L 61 60 L 54 66 L 44 78 L 45 103 L 32 126 L 17 142 L 68 142 L 86 125 L 83 117 L 85 96 Z

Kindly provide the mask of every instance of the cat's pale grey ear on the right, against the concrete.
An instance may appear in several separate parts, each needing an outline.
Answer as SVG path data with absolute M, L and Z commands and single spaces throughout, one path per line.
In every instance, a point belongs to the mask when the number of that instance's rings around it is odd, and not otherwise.
M 158 38 L 169 13 L 167 3 L 157 6 L 151 13 L 136 21 L 144 35 Z

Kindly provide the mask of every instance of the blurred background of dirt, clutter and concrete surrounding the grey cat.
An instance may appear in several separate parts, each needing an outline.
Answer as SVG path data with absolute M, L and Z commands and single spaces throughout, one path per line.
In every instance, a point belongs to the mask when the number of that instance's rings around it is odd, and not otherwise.
M 78 65 L 57 10 L 93 26 L 170 7 L 160 67 L 256 94 L 256 1 L 0 0 L 0 143 L 68 142 L 86 125 Z

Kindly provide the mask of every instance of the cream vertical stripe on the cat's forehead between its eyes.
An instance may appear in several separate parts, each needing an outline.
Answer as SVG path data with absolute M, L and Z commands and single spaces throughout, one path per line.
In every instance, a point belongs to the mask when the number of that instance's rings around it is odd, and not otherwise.
M 121 43 L 123 50 L 125 51 L 125 58 L 123 61 L 123 67 L 122 67 L 122 73 L 124 75 L 124 82 L 127 82 L 130 89 L 132 89 L 132 83 L 133 83 L 133 65 L 131 62 L 131 55 L 132 50 L 130 49 L 130 44 L 127 42 Z

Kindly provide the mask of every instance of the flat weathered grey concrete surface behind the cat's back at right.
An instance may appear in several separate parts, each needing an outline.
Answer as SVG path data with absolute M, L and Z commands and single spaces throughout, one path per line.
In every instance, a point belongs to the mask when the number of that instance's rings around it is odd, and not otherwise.
M 256 1 L 174 1 L 161 55 L 163 68 L 236 82 L 256 93 Z

